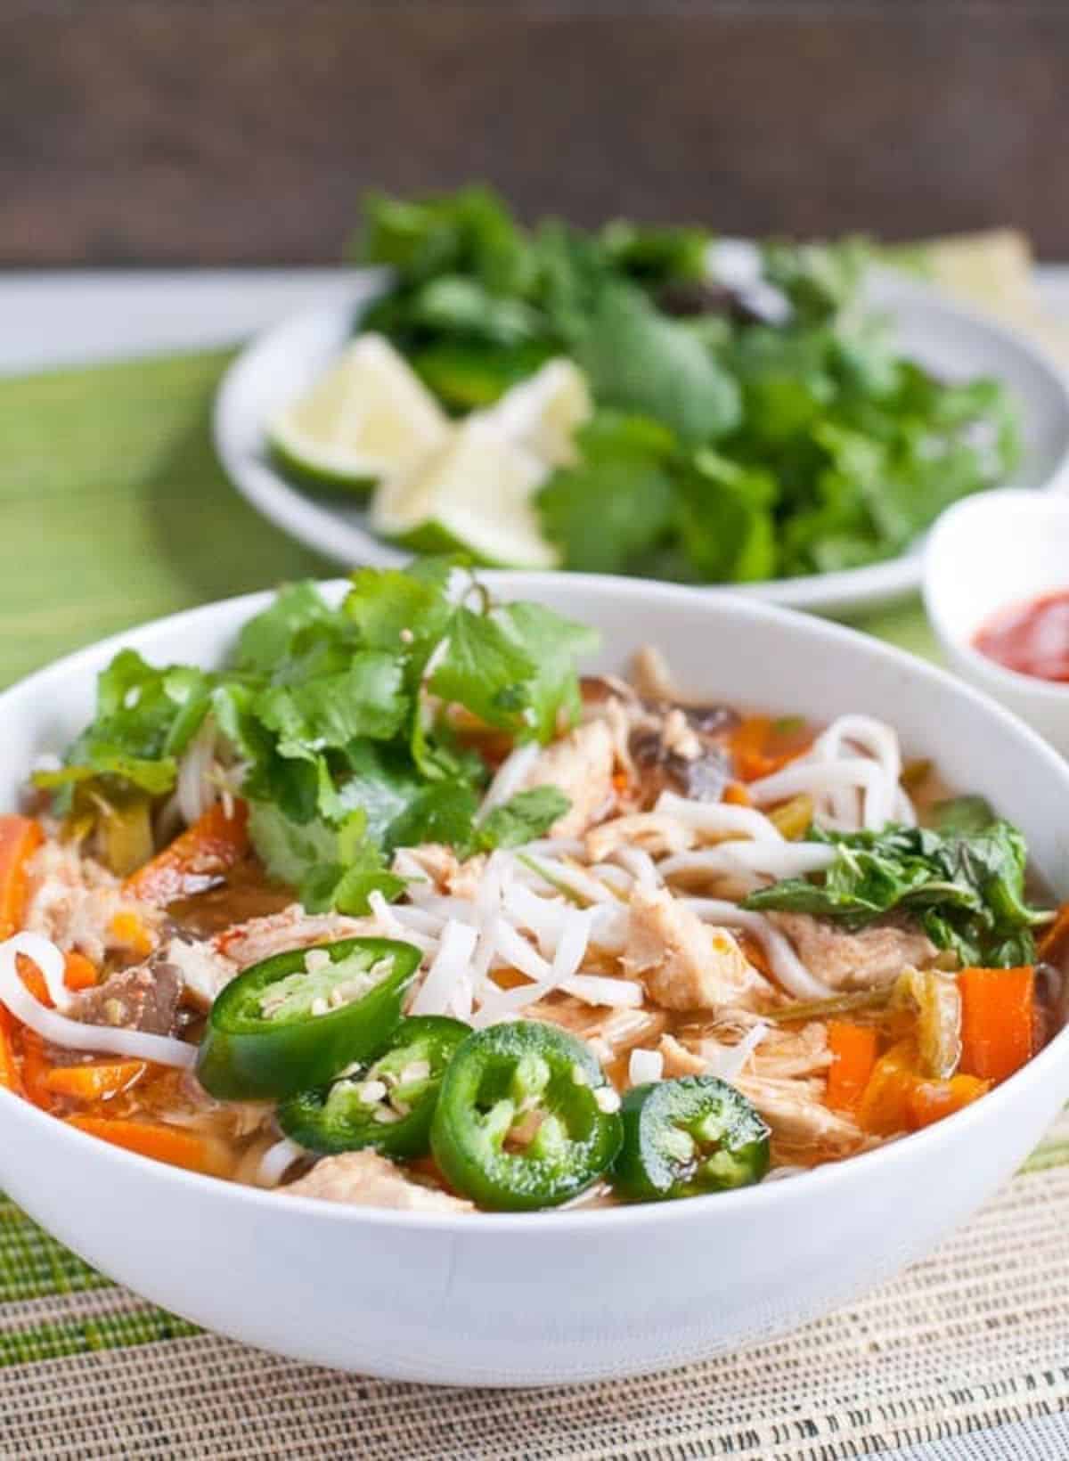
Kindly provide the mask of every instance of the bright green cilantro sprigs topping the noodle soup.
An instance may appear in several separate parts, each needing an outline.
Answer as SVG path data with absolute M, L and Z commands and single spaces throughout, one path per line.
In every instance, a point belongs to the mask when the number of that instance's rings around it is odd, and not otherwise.
M 540 836 L 568 805 L 548 787 L 476 825 L 489 770 L 454 720 L 552 739 L 578 714 L 575 663 L 597 636 L 539 603 L 495 605 L 457 573 L 442 560 L 362 568 L 340 605 L 314 584 L 282 589 L 215 675 L 124 650 L 99 678 L 93 723 L 38 785 L 64 814 L 80 783 L 101 802 L 164 796 L 203 725 L 240 777 L 269 875 L 310 909 L 346 913 L 402 891 L 396 847 L 442 842 L 467 856 Z

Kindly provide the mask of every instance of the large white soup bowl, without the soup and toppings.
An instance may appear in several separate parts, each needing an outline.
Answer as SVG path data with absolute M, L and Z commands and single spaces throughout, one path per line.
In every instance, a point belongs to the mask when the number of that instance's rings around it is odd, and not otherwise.
M 983 790 L 1069 890 L 1069 766 L 940 671 L 850 630 L 727 595 L 494 574 L 603 631 L 602 668 L 663 646 L 708 697 L 892 720 Z M 0 697 L 0 805 L 89 713 L 120 644 L 210 665 L 266 596 L 74 655 Z M 682 1365 L 784 1331 L 927 1252 L 1008 1178 L 1069 1096 L 1069 1033 L 977 1105 L 901 1143 L 740 1192 L 603 1211 L 412 1214 L 241 1188 L 107 1145 L 0 1091 L 0 1186 L 88 1262 L 188 1319 L 302 1360 L 467 1385 Z

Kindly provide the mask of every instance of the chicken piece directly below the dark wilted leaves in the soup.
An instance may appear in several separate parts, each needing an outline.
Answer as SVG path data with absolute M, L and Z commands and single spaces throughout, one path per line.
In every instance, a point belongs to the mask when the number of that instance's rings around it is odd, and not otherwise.
M 851 934 L 811 913 L 770 913 L 811 974 L 832 989 L 873 989 L 907 967 L 923 969 L 938 950 L 927 934 L 901 923 L 872 923 Z

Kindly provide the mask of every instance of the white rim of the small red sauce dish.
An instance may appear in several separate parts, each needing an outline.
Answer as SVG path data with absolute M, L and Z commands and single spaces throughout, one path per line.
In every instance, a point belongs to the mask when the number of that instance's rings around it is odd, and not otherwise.
M 973 497 L 964 497 L 959 503 L 952 503 L 932 527 L 927 543 L 924 545 L 922 595 L 924 599 L 924 611 L 939 638 L 946 644 L 952 644 L 955 653 L 961 655 L 961 657 L 977 675 L 986 676 L 992 685 L 997 685 L 1008 694 L 1030 695 L 1035 701 L 1065 707 L 1066 701 L 1069 701 L 1069 682 L 1040 679 L 1037 675 L 1022 675 L 1019 671 L 1009 669 L 1006 665 L 1000 665 L 999 660 L 989 659 L 987 655 L 981 655 L 973 644 L 971 638 L 967 638 L 957 630 L 951 630 L 948 627 L 939 599 L 939 557 L 940 554 L 949 554 L 952 551 L 954 533 L 958 530 L 962 519 L 980 517 L 983 514 L 996 519 L 999 514 L 1005 514 L 1011 519 L 1014 514 L 1030 513 L 1035 517 L 1062 519 L 1066 529 L 1069 529 L 1069 498 L 1059 497 L 1054 492 L 1035 492 L 1019 487 L 1000 487 L 989 492 L 976 492 Z M 1066 592 L 1069 592 L 1069 568 L 1066 568 Z M 1043 599 L 1046 598 L 1046 592 L 1040 592 L 1032 598 Z M 986 622 L 1000 609 L 1012 608 L 1015 603 L 1028 602 L 1028 599 L 1016 598 L 993 599 L 980 622 Z

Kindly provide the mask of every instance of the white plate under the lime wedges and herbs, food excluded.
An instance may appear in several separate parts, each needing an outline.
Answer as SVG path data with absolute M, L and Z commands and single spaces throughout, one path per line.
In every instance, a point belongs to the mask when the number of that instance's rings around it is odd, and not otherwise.
M 374 297 L 380 281 L 375 270 L 355 270 L 348 300 L 339 302 L 334 294 L 321 308 L 295 314 L 257 336 L 223 377 L 215 409 L 216 450 L 238 491 L 283 532 L 346 565 L 402 564 L 409 554 L 368 530 L 359 503 L 294 487 L 269 459 L 264 427 L 330 365 L 352 333 L 356 311 Z M 873 273 L 869 295 L 894 317 L 905 355 L 952 380 L 995 375 L 1012 390 L 1024 418 L 1025 451 L 1005 485 L 1066 482 L 1069 389 L 1038 349 L 904 275 Z M 867 568 L 775 579 L 746 584 L 740 592 L 796 609 L 843 611 L 894 599 L 919 584 L 920 548 Z

